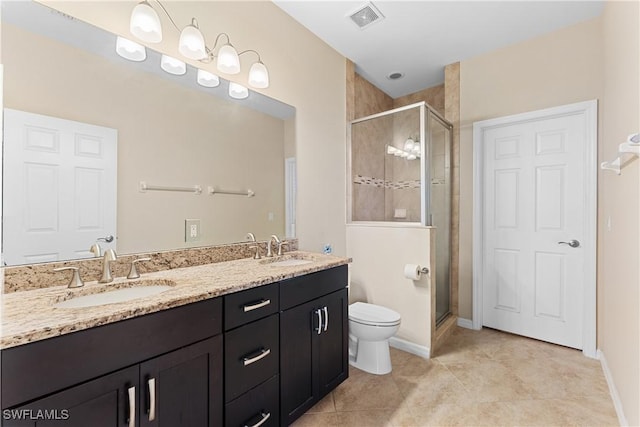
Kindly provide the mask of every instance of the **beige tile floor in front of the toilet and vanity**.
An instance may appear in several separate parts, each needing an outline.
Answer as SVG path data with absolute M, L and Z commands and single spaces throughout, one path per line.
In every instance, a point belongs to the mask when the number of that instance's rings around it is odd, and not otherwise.
M 391 349 L 393 372 L 349 379 L 293 425 L 617 426 L 600 362 L 491 329 L 458 328 L 431 360 Z

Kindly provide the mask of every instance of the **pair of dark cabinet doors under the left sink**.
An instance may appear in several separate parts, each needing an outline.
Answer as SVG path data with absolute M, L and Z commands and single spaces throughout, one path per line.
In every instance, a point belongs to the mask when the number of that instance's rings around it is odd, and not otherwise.
M 221 373 L 222 337 L 216 336 L 9 412 L 55 419 L 9 420 L 3 425 L 219 426 Z

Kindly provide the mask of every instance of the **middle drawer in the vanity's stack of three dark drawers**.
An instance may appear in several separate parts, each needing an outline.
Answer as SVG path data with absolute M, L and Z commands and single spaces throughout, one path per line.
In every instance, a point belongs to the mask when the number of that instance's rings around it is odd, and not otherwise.
M 279 324 L 276 313 L 225 333 L 225 402 L 278 373 Z

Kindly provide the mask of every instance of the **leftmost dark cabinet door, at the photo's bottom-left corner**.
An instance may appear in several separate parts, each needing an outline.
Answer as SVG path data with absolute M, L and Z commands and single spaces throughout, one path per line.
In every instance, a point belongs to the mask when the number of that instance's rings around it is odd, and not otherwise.
M 134 427 L 139 394 L 138 367 L 133 366 L 5 410 L 3 426 Z

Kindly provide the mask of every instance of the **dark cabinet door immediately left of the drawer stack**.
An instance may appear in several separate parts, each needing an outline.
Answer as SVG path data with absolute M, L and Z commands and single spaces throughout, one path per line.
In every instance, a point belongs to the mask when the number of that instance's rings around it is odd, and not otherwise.
M 222 425 L 222 336 L 140 365 L 140 426 Z

